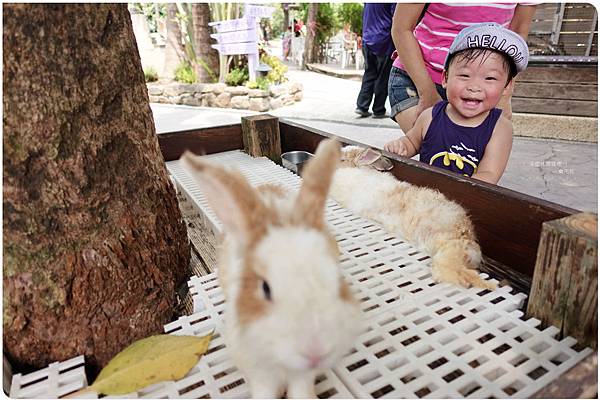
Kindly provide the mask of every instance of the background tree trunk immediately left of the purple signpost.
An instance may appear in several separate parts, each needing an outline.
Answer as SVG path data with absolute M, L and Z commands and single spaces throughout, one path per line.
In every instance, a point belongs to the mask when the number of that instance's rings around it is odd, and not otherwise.
M 200 82 L 214 82 L 219 71 L 219 54 L 211 45 L 210 7 L 208 3 L 192 4 L 194 22 L 195 71 Z

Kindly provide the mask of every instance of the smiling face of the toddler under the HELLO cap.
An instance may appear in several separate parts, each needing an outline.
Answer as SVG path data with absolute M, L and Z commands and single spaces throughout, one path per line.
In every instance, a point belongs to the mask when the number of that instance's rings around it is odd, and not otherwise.
M 465 118 L 476 117 L 496 107 L 512 88 L 500 54 L 485 52 L 473 60 L 456 56 L 443 74 L 448 102 Z

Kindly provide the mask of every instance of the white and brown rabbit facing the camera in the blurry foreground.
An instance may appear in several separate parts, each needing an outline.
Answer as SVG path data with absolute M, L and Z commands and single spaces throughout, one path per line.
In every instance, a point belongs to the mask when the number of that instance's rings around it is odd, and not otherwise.
M 362 329 L 324 220 L 339 143 L 320 144 L 297 196 L 275 185 L 255 189 L 239 172 L 189 152 L 181 160 L 223 223 L 225 341 L 252 396 L 316 398 L 317 373 L 332 367 Z

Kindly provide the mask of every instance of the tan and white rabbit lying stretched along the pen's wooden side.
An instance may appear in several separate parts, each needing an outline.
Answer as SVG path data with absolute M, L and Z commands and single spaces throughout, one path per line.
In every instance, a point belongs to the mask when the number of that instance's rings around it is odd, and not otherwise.
M 428 252 L 435 281 L 496 288 L 479 277 L 481 249 L 466 211 L 437 190 L 376 171 L 389 167 L 377 156 L 357 146 L 342 148 L 341 167 L 334 175 L 329 196 Z

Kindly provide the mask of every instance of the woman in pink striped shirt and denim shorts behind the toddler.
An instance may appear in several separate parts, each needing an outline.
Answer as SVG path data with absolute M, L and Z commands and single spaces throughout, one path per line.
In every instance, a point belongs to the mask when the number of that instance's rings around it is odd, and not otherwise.
M 394 13 L 392 39 L 397 58 L 390 72 L 388 94 L 391 117 L 404 132 L 412 128 L 423 110 L 446 98 L 441 85 L 444 61 L 463 28 L 496 22 L 526 39 L 535 13 L 535 5 L 516 3 L 428 3 L 419 21 L 425 6 L 398 4 Z M 509 119 L 510 96 L 503 97 L 498 105 Z

